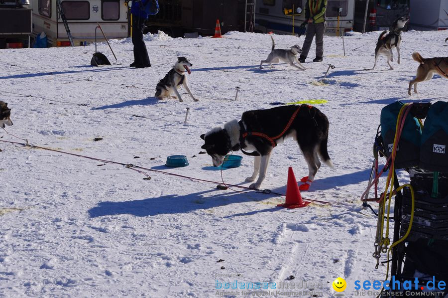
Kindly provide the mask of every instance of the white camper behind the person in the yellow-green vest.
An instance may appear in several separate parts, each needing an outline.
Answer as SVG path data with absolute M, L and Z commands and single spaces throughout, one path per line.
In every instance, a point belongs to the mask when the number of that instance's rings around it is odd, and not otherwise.
M 285 14 L 285 9 L 292 11 L 294 6 L 294 33 L 299 33 L 299 26 L 305 20 L 306 0 L 257 0 L 255 12 L 255 31 L 267 33 L 272 31 L 279 34 L 292 34 L 292 16 Z M 339 35 L 353 28 L 355 0 L 327 0 L 326 20 L 327 27 L 325 33 L 336 35 L 339 28 Z M 301 13 L 297 13 L 297 7 L 302 8 Z M 337 15 L 339 16 L 339 27 L 337 26 Z

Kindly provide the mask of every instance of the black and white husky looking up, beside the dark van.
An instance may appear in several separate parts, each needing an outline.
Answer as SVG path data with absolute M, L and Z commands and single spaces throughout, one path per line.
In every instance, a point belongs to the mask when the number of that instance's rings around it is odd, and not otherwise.
M 393 48 L 397 48 L 397 62 L 398 64 L 400 64 L 401 31 L 403 31 L 403 28 L 408 20 L 409 19 L 405 16 L 399 17 L 393 22 L 390 30 L 381 32 L 380 36 L 378 37 L 378 41 L 376 42 L 375 63 L 372 69 L 375 68 L 376 60 L 378 59 L 380 54 L 387 57 L 387 64 L 389 64 L 390 69 L 394 69 L 392 65 L 390 65 L 390 61 L 394 61 L 394 54 L 392 52 Z

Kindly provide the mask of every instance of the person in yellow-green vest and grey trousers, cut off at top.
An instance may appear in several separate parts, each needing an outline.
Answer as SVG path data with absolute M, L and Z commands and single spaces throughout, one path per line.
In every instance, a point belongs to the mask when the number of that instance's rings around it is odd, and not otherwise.
M 305 21 L 307 33 L 302 46 L 302 53 L 299 61 L 305 62 L 310 51 L 313 37 L 316 35 L 316 58 L 313 62 L 321 62 L 324 55 L 324 31 L 325 31 L 325 11 L 327 10 L 327 0 L 307 0 L 305 5 Z

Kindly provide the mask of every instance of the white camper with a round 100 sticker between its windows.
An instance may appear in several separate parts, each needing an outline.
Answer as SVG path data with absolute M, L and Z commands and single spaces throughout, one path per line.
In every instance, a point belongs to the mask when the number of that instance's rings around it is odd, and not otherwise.
M 31 0 L 33 34 L 45 32 L 53 46 L 70 46 L 70 41 L 57 9 L 57 0 Z M 62 9 L 75 45 L 95 40 L 95 28 L 101 24 L 108 38 L 128 36 L 127 3 L 124 0 L 61 0 Z M 102 34 L 98 30 L 98 38 Z

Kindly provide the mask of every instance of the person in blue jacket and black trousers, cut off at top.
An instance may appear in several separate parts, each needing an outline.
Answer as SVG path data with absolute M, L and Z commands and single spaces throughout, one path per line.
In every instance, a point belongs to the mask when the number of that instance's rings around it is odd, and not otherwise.
M 132 44 L 134 45 L 134 62 L 129 66 L 135 68 L 151 67 L 148 51 L 143 41 L 144 22 L 149 17 L 146 5 L 150 5 L 151 0 L 134 0 L 132 1 Z

